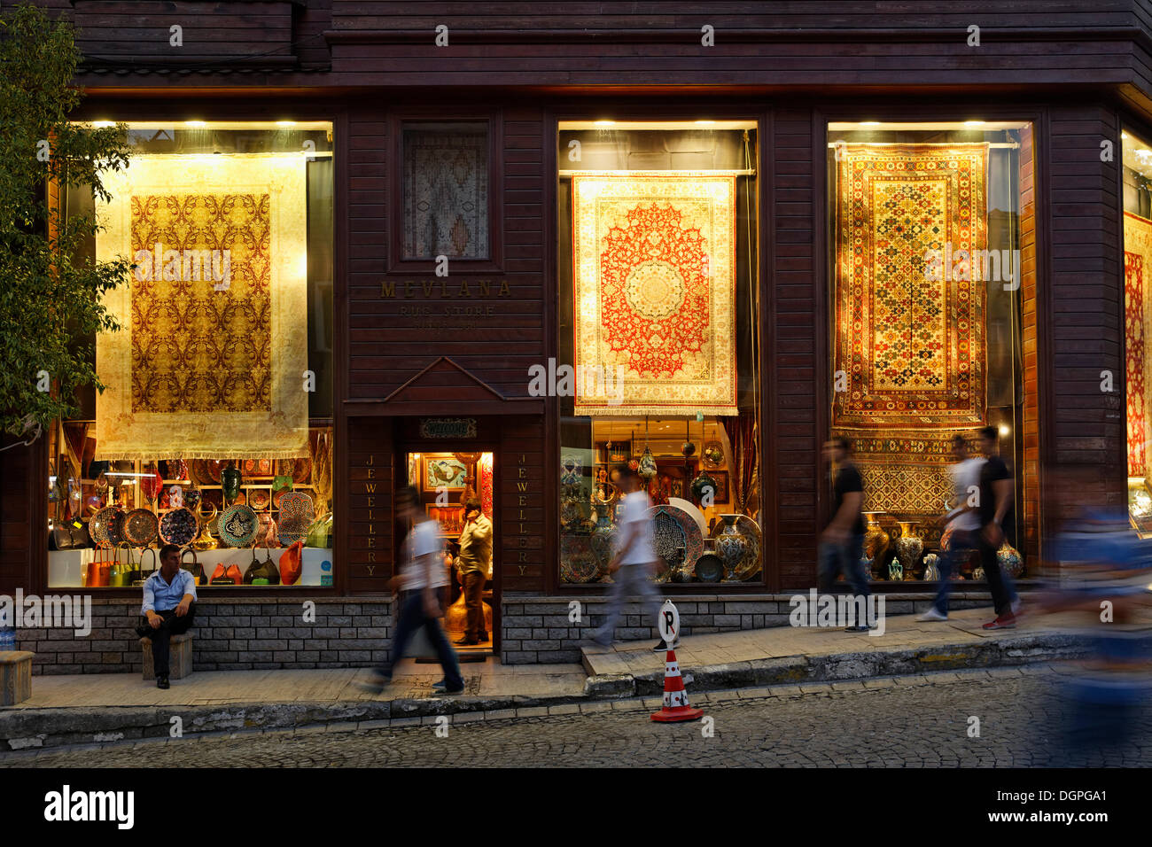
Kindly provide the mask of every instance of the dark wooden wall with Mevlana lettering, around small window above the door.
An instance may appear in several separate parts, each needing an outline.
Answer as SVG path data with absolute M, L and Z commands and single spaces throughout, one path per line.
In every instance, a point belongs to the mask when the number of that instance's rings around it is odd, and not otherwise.
M 397 108 L 406 114 L 402 106 Z M 465 120 L 465 108 L 457 99 L 442 111 L 456 109 L 453 114 Z M 351 121 L 351 399 L 384 399 L 440 356 L 449 356 L 501 395 L 523 398 L 529 365 L 547 362 L 543 113 L 539 108 L 478 108 L 497 114 L 500 166 L 494 173 L 502 203 L 498 203 L 495 232 L 503 234 L 497 250 L 501 269 L 472 272 L 449 264 L 447 278 L 430 270 L 406 271 L 402 264 L 385 273 L 389 228 L 401 226 L 401 187 L 388 184 L 389 174 L 401 173 L 400 162 L 389 161 L 397 149 L 392 133 L 400 124 L 381 112 L 367 111 Z M 392 296 L 385 296 L 385 282 L 392 286 L 387 289 Z M 480 283 L 487 283 L 487 296 L 480 294 Z M 412 309 L 424 311 L 414 317 Z

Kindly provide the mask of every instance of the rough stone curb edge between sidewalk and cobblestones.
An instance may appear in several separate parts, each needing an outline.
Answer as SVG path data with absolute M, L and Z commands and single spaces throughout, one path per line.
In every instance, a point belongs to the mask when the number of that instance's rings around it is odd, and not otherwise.
M 866 636 L 865 636 L 866 637 Z M 684 667 L 689 691 L 756 688 L 770 685 L 859 680 L 957 668 L 996 667 L 1082 656 L 1085 644 L 1066 634 L 1029 634 L 976 644 L 950 644 L 888 652 L 794 656 L 707 667 Z M 690 678 L 690 679 L 689 679 Z M 238 703 L 229 705 L 81 706 L 0 711 L 0 753 L 43 750 L 93 743 L 167 739 L 179 717 L 184 740 L 262 729 L 324 731 L 331 725 L 381 727 L 422 723 L 437 716 L 483 713 L 485 719 L 526 717 L 547 709 L 590 701 L 659 696 L 664 672 L 590 676 L 581 695 L 425 697 L 393 701 Z M 552 710 L 560 713 L 563 710 Z M 533 711 L 545 714 L 545 711 Z M 472 720 L 477 718 L 471 718 Z M 425 720 L 424 723 L 431 723 Z

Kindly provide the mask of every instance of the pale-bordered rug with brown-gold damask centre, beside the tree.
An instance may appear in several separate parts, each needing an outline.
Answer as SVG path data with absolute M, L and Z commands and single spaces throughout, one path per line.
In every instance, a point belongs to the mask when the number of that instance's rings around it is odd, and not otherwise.
M 97 338 L 100 459 L 308 452 L 305 160 L 136 156 L 97 204 L 97 257 L 136 263 Z

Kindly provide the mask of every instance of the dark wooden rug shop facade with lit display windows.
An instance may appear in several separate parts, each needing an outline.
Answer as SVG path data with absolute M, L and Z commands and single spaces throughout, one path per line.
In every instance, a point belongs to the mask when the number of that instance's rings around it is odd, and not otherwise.
M 54 194 L 136 263 L 108 391 L 0 453 L 0 593 L 105 608 L 86 646 L 17 633 L 44 672 L 138 664 L 162 538 L 209 577 L 304 543 L 294 585 L 202 590 L 198 667 L 380 658 L 406 484 L 449 545 L 464 499 L 493 521 L 508 663 L 578 660 L 622 462 L 696 632 L 814 584 L 834 436 L 877 590 L 930 589 L 985 425 L 1021 578 L 1073 507 L 1152 522 L 1143 0 L 40 5 L 78 28 L 76 120 L 136 152 L 109 202 Z M 323 637 L 283 621 L 306 599 Z

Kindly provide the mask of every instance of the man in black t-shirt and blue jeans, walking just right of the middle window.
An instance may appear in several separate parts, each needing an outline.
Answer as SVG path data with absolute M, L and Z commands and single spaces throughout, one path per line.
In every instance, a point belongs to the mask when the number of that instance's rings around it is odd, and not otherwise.
M 835 463 L 836 474 L 833 479 L 834 499 L 832 501 L 832 523 L 820 535 L 819 565 L 817 576 L 820 593 L 832 591 L 836 576 L 843 573 L 857 597 L 864 598 L 867 607 L 867 577 L 861 559 L 864 555 L 864 482 L 852 464 L 851 441 L 847 438 L 833 438 L 824 445 L 824 455 Z M 866 622 L 857 620 L 855 626 L 847 627 L 849 633 L 866 633 Z

